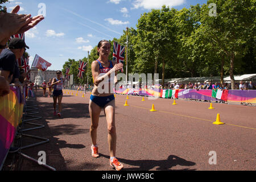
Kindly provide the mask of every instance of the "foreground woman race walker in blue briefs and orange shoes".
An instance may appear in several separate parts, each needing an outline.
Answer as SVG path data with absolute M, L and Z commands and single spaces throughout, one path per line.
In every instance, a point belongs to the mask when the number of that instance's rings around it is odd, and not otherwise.
M 123 168 L 123 164 L 119 163 L 115 158 L 115 146 L 117 141 L 117 135 L 115 133 L 115 97 L 114 93 L 110 92 L 113 88 L 115 75 L 119 69 L 123 68 L 123 64 L 115 64 L 108 60 L 110 54 L 111 44 L 108 40 L 101 40 L 98 43 L 98 59 L 92 63 L 92 76 L 94 88 L 92 95 L 90 96 L 89 112 L 91 118 L 90 137 L 92 138 L 92 156 L 98 158 L 98 146 L 97 146 L 97 127 L 101 113 L 101 109 L 104 109 L 106 121 L 108 123 L 108 143 L 110 152 L 110 166 L 115 167 L 117 171 Z M 110 77 L 112 75 L 112 77 Z M 115 78 L 116 80 L 116 78 Z M 102 86 L 109 86 L 108 90 Z M 102 93 L 103 90 L 103 93 Z

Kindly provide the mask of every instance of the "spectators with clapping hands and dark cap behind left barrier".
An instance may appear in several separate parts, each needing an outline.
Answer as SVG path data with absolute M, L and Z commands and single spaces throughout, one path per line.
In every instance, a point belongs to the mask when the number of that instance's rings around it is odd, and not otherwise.
M 36 26 L 44 17 L 17 14 L 19 9 L 20 6 L 17 5 L 10 13 L 0 12 L 0 97 L 10 93 L 10 85 L 30 85 L 26 78 L 27 73 L 16 63 L 29 47 L 20 38 L 11 39 L 8 45 L 7 42 L 11 36 L 22 34 Z

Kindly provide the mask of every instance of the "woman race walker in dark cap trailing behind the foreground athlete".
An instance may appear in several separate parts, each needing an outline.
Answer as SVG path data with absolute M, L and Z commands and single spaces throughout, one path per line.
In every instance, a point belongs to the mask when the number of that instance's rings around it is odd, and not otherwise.
M 61 77 L 62 76 L 61 71 L 57 71 L 56 74 L 57 74 L 57 77 L 53 78 L 52 84 L 51 84 L 51 86 L 54 89 L 53 93 L 52 93 L 53 108 L 54 108 L 54 115 L 56 115 L 56 102 L 57 102 L 57 99 L 58 99 L 58 105 L 59 105 L 58 116 L 61 117 L 61 109 L 62 109 L 61 100 L 62 100 L 62 97 L 63 97 L 62 88 L 63 88 L 64 79 Z

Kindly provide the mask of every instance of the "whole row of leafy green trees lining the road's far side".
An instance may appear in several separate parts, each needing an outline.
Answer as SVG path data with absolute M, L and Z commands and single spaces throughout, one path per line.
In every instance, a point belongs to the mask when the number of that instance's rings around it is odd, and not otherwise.
M 210 3 L 216 3 L 217 16 L 210 16 Z M 128 72 L 160 73 L 165 77 L 218 76 L 221 82 L 229 73 L 234 89 L 234 74 L 254 73 L 255 1 L 208 0 L 207 4 L 175 10 L 163 6 L 138 19 L 137 30 L 129 28 Z M 242 32 L 242 33 L 241 33 Z M 126 31 L 110 40 L 126 44 Z M 93 84 L 91 64 L 98 59 L 97 46 L 89 55 L 89 83 Z M 112 53 L 109 60 L 113 59 Z M 87 61 L 86 57 L 84 60 Z M 69 60 L 76 78 L 79 62 Z M 124 65 L 126 71 L 126 65 Z M 85 75 L 87 70 L 85 72 Z

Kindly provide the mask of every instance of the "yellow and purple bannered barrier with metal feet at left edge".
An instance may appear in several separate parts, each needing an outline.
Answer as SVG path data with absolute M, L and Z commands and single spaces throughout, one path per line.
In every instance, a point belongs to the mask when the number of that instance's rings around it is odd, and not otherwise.
M 0 171 L 2 170 L 3 164 L 5 163 L 5 159 L 9 152 L 17 152 L 17 154 L 20 156 L 37 162 L 36 159 L 23 154 L 21 150 L 49 142 L 49 139 L 47 138 L 23 133 L 24 131 L 41 129 L 44 127 L 44 125 L 28 122 L 41 119 L 42 117 L 34 115 L 39 113 L 38 111 L 34 111 L 38 110 L 38 107 L 36 107 L 36 99 L 27 97 L 28 94 L 26 88 L 23 88 L 22 90 L 23 94 L 18 87 L 16 88 L 11 86 L 10 93 L 4 97 L 0 97 Z M 34 94 L 31 94 L 32 97 L 34 97 L 33 95 Z M 25 97 L 27 97 L 26 100 L 24 99 Z M 23 129 L 25 124 L 34 125 L 37 127 Z M 15 136 L 17 136 L 20 141 L 22 141 L 22 137 L 34 138 L 42 141 L 28 144 L 27 146 L 22 146 L 22 142 L 19 142 L 15 150 L 10 151 L 10 147 L 14 143 Z M 41 165 L 56 171 L 55 168 L 48 166 L 47 164 Z

